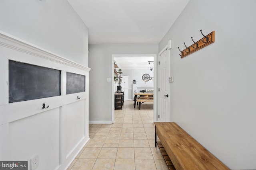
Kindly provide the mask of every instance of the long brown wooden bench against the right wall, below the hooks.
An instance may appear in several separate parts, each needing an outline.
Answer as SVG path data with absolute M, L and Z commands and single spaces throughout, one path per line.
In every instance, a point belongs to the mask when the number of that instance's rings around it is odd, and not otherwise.
M 156 135 L 176 170 L 229 170 L 176 123 L 155 122 L 154 124 Z

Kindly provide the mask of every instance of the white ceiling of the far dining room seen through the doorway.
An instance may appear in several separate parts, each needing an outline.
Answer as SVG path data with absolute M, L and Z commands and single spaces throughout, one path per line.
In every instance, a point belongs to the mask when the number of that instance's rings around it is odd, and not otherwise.
M 123 69 L 148 69 L 148 61 L 154 61 L 154 57 L 126 56 L 114 57 L 119 68 Z

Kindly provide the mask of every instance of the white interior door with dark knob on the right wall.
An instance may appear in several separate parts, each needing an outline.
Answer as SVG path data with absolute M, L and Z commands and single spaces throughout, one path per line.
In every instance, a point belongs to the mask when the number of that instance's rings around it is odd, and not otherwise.
M 169 121 L 169 50 L 158 56 L 158 121 Z

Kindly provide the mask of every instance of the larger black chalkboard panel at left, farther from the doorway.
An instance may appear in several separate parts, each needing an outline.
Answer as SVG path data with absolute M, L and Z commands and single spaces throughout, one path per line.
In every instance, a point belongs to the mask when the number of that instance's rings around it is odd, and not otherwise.
M 9 60 L 9 103 L 60 96 L 60 70 Z

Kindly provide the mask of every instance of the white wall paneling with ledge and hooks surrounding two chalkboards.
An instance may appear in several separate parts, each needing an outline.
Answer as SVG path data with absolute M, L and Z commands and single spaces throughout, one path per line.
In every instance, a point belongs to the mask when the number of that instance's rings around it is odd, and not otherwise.
M 66 169 L 89 140 L 90 68 L 4 33 L 0 33 L 0 57 L 0 133 L 4 135 L 0 160 L 29 161 L 38 154 L 38 170 Z M 8 60 L 61 70 L 61 96 L 9 104 Z M 86 91 L 66 95 L 66 72 L 85 75 Z M 43 103 L 49 107 L 42 109 Z

